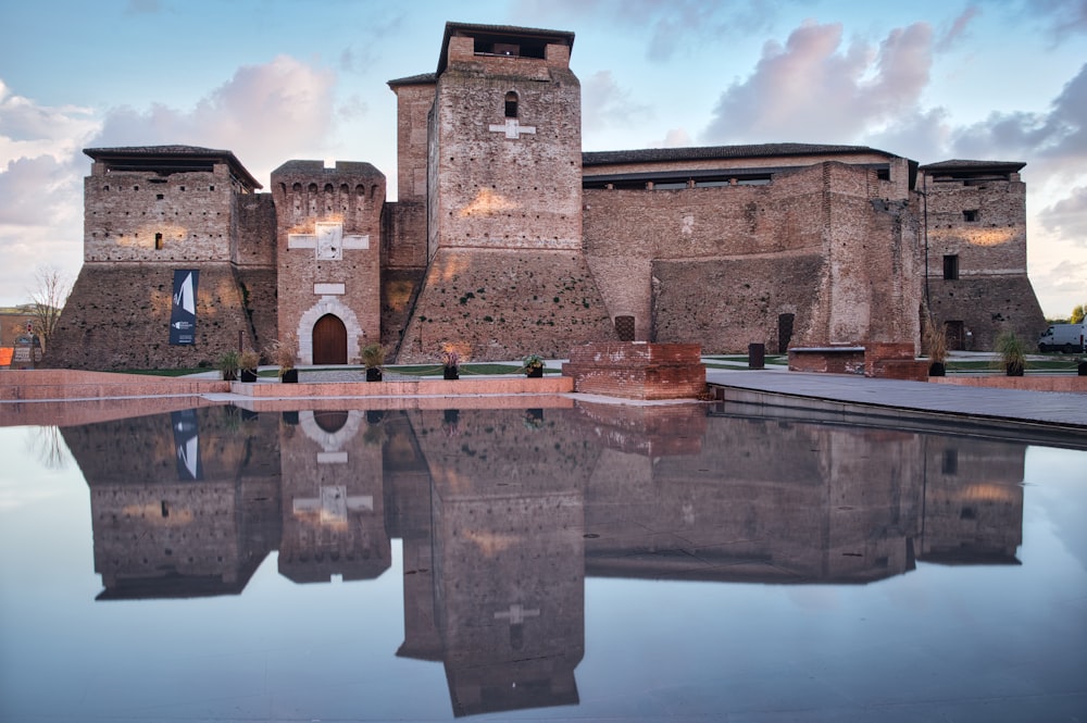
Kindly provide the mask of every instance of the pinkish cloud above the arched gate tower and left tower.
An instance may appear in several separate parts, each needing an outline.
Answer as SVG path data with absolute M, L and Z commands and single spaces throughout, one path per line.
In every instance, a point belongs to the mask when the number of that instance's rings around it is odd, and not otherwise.
M 238 68 L 191 110 L 114 109 L 95 144 L 228 149 L 263 183 L 284 159 L 324 158 L 337 117 L 334 85 L 330 71 L 279 55 Z

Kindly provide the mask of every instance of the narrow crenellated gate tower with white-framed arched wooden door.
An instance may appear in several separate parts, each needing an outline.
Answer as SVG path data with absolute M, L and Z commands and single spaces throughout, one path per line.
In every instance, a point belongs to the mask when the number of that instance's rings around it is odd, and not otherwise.
M 370 163 L 288 161 L 272 172 L 279 339 L 302 364 L 358 362 L 380 340 L 385 175 Z

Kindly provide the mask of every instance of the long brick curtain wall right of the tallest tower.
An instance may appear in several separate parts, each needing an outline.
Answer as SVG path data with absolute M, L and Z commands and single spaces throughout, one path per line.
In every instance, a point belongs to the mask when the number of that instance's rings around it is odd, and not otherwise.
M 762 186 L 586 190 L 585 246 L 610 315 L 637 339 L 707 352 L 917 340 L 916 228 L 904 184 L 821 163 Z

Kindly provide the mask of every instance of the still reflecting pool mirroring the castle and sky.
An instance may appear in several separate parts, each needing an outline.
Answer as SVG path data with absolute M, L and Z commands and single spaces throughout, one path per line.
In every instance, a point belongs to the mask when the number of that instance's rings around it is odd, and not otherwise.
M 720 407 L 0 428 L 2 721 L 1087 715 L 1087 452 Z

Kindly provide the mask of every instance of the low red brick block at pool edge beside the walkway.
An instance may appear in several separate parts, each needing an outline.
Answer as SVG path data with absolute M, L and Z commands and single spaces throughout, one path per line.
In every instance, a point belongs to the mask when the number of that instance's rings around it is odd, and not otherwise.
M 705 366 L 697 344 L 645 341 L 587 344 L 562 365 L 574 391 L 625 399 L 695 399 L 705 392 Z

